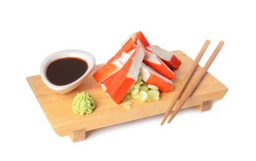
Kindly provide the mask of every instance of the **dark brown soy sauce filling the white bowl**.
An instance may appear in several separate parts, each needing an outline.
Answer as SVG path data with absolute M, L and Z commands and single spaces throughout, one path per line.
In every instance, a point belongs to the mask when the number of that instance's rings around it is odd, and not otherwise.
M 55 85 L 66 85 L 75 82 L 88 69 L 88 63 L 80 58 L 60 58 L 47 67 L 47 79 Z

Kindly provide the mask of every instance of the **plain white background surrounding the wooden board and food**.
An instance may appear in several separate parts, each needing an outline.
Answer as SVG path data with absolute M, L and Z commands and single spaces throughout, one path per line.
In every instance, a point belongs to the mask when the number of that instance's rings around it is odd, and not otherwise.
M 0 1 L 0 160 L 256 160 L 254 1 Z M 91 131 L 81 142 L 51 128 L 26 77 L 48 54 L 94 54 L 96 64 L 141 31 L 151 45 L 196 58 L 229 88 L 209 111 L 181 110 Z M 209 84 L 210 85 L 210 84 Z

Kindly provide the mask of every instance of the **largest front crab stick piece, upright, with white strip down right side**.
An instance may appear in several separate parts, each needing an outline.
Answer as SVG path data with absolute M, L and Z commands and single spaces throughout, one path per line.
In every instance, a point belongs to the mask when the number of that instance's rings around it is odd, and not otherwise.
M 103 90 L 117 104 L 122 102 L 137 81 L 144 55 L 144 49 L 139 46 L 119 71 L 101 82 Z

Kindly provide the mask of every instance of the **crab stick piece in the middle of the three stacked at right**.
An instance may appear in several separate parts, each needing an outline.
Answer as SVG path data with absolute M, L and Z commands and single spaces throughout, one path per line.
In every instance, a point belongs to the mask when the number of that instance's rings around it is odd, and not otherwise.
M 171 71 L 171 69 L 165 63 L 163 63 L 163 61 L 158 58 L 155 53 L 152 53 L 151 51 L 145 51 L 143 63 L 168 79 L 174 79 L 176 77 L 174 72 Z

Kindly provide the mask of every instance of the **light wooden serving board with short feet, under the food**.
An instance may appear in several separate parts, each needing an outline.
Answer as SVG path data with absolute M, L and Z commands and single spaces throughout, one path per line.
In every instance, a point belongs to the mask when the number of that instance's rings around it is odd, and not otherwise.
M 123 103 L 117 105 L 112 101 L 111 98 L 104 93 L 101 85 L 94 81 L 94 72 L 98 70 L 99 67 L 103 66 L 103 64 L 96 65 L 91 74 L 86 78 L 86 81 L 69 94 L 58 94 L 49 89 L 43 83 L 40 75 L 27 77 L 27 81 L 55 133 L 57 133 L 58 136 L 70 136 L 73 142 L 83 141 L 86 139 L 86 131 L 165 113 L 171 103 L 171 99 L 174 97 L 186 73 L 193 64 L 193 59 L 182 51 L 173 51 L 173 53 L 182 61 L 180 68 L 173 71 L 176 74 L 176 78 L 172 80 L 173 90 L 169 93 L 160 93 L 160 100 L 157 101 L 142 103 L 138 100 L 132 100 L 134 104 L 129 110 L 124 108 Z M 188 87 L 194 81 L 201 68 L 201 66 L 197 67 L 185 92 L 188 90 Z M 183 108 L 197 107 L 201 111 L 209 110 L 211 109 L 213 101 L 221 100 L 227 90 L 224 84 L 207 72 L 194 93 L 183 105 Z M 93 113 L 81 116 L 73 113 L 71 103 L 75 95 L 83 91 L 93 96 L 96 108 Z M 185 92 L 183 92 L 181 98 Z M 178 100 L 176 105 L 179 101 L 180 100 Z M 174 109 L 175 107 L 173 110 Z M 159 120 L 159 125 L 161 121 L 162 120 Z

